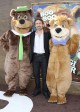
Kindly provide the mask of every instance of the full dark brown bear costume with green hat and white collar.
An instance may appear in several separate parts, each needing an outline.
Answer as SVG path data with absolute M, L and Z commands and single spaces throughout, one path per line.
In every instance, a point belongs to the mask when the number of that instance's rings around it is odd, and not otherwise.
M 32 28 L 33 12 L 27 6 L 20 6 L 10 11 L 12 17 L 12 30 L 5 32 L 0 37 L 0 44 L 6 51 L 5 81 L 8 90 L 6 96 L 12 96 L 19 83 L 20 94 L 26 95 L 26 86 L 32 74 L 29 61 L 30 33 Z M 23 58 L 18 59 L 20 35 L 22 35 Z M 21 48 L 20 48 L 21 49 Z

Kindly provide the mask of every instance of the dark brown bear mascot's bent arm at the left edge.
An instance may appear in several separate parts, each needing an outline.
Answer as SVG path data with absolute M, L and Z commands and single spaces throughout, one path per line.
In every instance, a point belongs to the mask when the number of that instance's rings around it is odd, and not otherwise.
M 1 37 L 0 37 L 0 46 L 3 47 L 5 51 L 9 50 L 9 31 L 5 32 Z

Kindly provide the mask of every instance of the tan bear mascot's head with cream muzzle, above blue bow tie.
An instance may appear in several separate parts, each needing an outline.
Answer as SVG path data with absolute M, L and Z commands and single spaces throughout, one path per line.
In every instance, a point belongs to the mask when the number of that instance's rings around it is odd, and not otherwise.
M 67 16 L 56 16 L 49 22 L 52 38 L 61 41 L 69 38 L 72 19 Z

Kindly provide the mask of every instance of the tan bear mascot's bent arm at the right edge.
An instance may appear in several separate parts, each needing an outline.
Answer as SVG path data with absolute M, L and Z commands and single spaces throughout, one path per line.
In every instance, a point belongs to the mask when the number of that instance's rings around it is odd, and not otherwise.
M 68 41 L 67 45 L 70 54 L 75 54 L 77 52 L 79 46 L 79 38 L 80 35 L 74 34 Z

